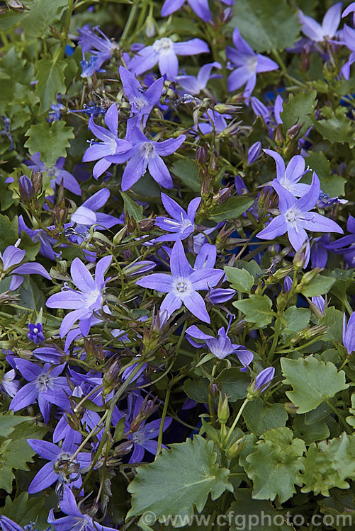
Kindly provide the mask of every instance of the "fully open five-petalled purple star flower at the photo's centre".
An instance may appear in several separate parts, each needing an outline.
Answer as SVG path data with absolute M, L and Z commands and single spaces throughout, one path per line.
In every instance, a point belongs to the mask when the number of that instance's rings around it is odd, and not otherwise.
M 171 275 L 167 273 L 153 273 L 146 278 L 137 280 L 136 284 L 149 287 L 151 290 L 167 293 L 160 311 L 167 310 L 169 316 L 180 309 L 182 304 L 201 321 L 210 323 L 205 302 L 198 293 L 199 290 L 208 290 L 218 284 L 224 271 L 204 268 L 194 271 L 188 263 L 181 240 L 177 240 L 171 251 Z

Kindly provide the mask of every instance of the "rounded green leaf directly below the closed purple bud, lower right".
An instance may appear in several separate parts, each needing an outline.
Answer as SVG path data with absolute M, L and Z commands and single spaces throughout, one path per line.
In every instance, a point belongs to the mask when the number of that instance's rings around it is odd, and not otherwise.
M 259 436 L 266 430 L 285 426 L 288 414 L 282 404 L 268 405 L 258 398 L 247 403 L 243 418 L 249 430 Z

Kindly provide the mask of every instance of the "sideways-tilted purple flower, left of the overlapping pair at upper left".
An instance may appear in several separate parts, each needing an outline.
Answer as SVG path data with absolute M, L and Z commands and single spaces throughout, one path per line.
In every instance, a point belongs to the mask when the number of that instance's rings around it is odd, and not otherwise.
M 105 129 L 105 127 L 96 125 L 92 117 L 89 118 L 89 130 L 102 140 L 102 142 L 94 142 L 91 140 L 90 147 L 86 149 L 83 156 L 83 162 L 98 160 L 93 169 L 93 175 L 96 179 L 112 164 L 111 161 L 106 159 L 106 156 L 115 155 L 115 161 L 120 164 L 127 160 L 127 158 L 125 158 L 125 153 L 132 147 L 130 142 L 120 139 L 117 136 L 118 110 L 115 103 L 113 103 L 106 111 L 104 120 L 108 130 Z

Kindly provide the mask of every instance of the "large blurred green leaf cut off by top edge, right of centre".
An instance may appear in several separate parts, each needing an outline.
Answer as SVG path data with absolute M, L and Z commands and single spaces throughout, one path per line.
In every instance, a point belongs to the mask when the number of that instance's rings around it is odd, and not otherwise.
M 233 29 L 237 26 L 256 52 L 284 50 L 298 36 L 298 16 L 286 0 L 278 1 L 277 16 L 274 0 L 236 0 L 233 13 L 228 25 Z

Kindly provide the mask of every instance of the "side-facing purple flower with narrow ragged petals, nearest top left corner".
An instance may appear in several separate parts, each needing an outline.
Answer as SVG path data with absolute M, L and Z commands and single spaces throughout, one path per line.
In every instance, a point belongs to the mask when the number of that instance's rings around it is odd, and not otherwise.
M 100 33 L 102 38 L 98 37 L 93 30 L 96 30 L 98 33 Z M 114 50 L 118 49 L 118 45 L 112 40 L 109 40 L 106 35 L 98 28 L 98 26 L 93 28 L 93 30 L 91 30 L 89 24 L 84 25 L 83 28 L 78 30 L 80 35 L 79 45 L 83 51 L 83 61 L 81 62 L 83 72 L 81 77 L 91 77 L 94 72 L 103 72 L 103 70 L 100 69 L 101 64 L 107 61 L 107 59 L 110 59 Z M 91 53 L 89 62 L 85 60 L 86 52 Z

